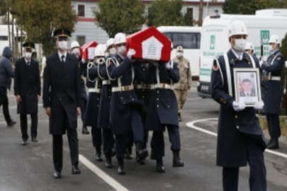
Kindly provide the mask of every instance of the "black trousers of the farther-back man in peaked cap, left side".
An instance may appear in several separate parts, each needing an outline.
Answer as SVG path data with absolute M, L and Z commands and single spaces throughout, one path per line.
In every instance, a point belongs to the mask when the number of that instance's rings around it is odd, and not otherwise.
M 38 112 L 34 112 L 30 114 L 31 116 L 31 137 L 37 137 L 37 129 L 38 129 Z M 20 114 L 20 125 L 21 125 L 21 133 L 22 139 L 28 140 L 28 121 L 27 114 Z

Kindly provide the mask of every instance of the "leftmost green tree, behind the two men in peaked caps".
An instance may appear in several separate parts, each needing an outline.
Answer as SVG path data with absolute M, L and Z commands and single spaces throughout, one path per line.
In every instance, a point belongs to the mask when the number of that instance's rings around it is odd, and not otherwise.
M 28 40 L 42 43 L 45 55 L 55 48 L 53 30 L 67 28 L 73 31 L 77 18 L 71 0 L 17 0 L 13 8 L 16 23 L 23 26 Z

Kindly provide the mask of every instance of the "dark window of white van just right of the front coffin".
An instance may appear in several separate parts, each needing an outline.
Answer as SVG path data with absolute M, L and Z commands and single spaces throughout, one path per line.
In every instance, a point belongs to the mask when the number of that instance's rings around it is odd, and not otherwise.
M 181 45 L 184 49 L 200 49 L 201 33 L 164 33 L 174 47 Z

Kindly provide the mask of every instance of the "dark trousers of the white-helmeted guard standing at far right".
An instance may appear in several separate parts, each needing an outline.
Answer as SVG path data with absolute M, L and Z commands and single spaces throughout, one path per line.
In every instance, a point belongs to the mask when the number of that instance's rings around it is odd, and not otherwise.
M 278 139 L 281 136 L 279 115 L 267 113 L 266 119 L 271 139 Z

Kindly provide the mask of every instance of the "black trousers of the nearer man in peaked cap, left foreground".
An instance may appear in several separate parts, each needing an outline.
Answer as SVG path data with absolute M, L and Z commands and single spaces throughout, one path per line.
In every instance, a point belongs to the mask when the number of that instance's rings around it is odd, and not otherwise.
M 67 129 L 69 141 L 69 154 L 73 166 L 79 164 L 79 141 L 77 129 Z M 53 161 L 55 170 L 61 171 L 63 167 L 63 137 L 62 135 L 53 135 Z

